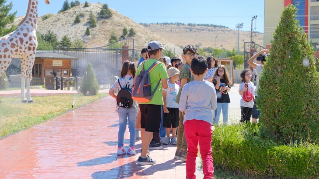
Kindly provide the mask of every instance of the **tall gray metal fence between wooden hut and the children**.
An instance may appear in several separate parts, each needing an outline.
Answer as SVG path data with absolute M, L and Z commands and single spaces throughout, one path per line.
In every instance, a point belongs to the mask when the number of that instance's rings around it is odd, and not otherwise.
M 53 52 L 78 58 L 72 60 L 73 76 L 83 76 L 88 63 L 98 80 L 119 76 L 122 62 L 134 59 L 134 39 L 124 38 L 112 44 L 95 48 L 54 47 Z

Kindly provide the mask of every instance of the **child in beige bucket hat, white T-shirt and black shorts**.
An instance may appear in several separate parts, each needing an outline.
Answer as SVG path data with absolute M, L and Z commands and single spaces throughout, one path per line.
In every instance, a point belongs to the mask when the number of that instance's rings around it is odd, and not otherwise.
M 179 123 L 179 109 L 178 104 L 175 102 L 177 93 L 179 91 L 179 86 L 175 83 L 179 78 L 179 70 L 177 68 L 171 67 L 167 71 L 169 82 L 168 88 L 163 89 L 163 100 L 164 100 L 164 121 L 163 127 L 166 128 L 166 138 L 163 144 L 167 145 L 172 143 L 177 144 L 176 139 L 176 128 Z M 170 139 L 170 129 L 172 127 L 172 140 Z

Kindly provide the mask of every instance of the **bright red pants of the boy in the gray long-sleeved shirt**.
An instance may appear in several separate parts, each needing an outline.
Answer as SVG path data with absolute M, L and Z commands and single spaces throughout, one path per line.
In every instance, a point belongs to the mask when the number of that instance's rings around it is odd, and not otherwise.
M 184 132 L 187 141 L 186 178 L 196 179 L 196 157 L 199 152 L 203 160 L 203 173 L 205 179 L 213 179 L 214 165 L 211 156 L 211 124 L 204 120 L 187 120 L 184 123 Z

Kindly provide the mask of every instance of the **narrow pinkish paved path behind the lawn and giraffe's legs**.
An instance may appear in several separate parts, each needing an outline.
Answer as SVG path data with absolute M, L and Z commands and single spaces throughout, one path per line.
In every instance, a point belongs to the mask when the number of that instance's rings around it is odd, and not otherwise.
M 99 93 L 108 93 L 108 90 L 99 90 Z M 26 93 L 26 90 L 25 90 Z M 51 96 L 51 95 L 66 95 L 77 94 L 78 91 L 66 91 L 66 90 L 46 90 L 46 89 L 30 89 L 32 96 Z M 0 97 L 20 97 L 21 90 L 0 91 Z

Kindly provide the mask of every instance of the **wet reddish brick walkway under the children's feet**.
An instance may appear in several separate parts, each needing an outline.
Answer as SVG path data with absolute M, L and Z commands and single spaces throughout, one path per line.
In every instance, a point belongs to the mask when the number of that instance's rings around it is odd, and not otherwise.
M 156 165 L 138 166 L 137 155 L 116 155 L 115 100 L 104 98 L 0 140 L 0 178 L 185 179 L 176 147 L 151 151 Z M 128 146 L 129 132 L 124 145 Z M 197 171 L 197 178 L 203 178 Z

